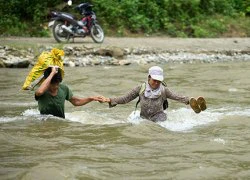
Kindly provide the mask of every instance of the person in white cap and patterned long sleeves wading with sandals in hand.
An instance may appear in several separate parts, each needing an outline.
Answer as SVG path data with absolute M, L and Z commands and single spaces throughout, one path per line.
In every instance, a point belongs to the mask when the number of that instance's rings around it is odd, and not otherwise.
M 141 105 L 140 116 L 154 122 L 167 119 L 167 115 L 164 113 L 164 109 L 167 108 L 167 99 L 190 104 L 196 113 L 206 109 L 206 101 L 203 97 L 198 97 L 196 100 L 193 97 L 177 95 L 163 85 L 163 80 L 162 68 L 153 66 L 149 68 L 147 82 L 135 87 L 124 96 L 105 98 L 104 101 L 108 102 L 110 107 L 114 107 L 117 104 L 126 104 L 139 96 Z

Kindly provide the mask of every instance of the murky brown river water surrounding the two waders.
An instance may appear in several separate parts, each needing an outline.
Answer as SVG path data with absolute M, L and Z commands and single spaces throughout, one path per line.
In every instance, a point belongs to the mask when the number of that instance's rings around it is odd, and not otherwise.
M 64 83 L 80 97 L 119 96 L 151 65 L 66 68 Z M 140 119 L 136 100 L 66 102 L 66 119 L 42 116 L 20 90 L 30 69 L 1 69 L 0 179 L 248 179 L 250 62 L 160 66 L 170 89 L 204 96 L 208 109 L 170 100 L 161 124 Z

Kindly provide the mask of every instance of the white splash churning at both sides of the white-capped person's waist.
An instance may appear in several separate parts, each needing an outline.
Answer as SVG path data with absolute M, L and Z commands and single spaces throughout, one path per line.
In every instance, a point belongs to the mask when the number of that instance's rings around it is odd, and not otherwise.
M 158 122 L 158 124 L 170 131 L 187 132 L 192 131 L 195 127 L 207 126 L 213 122 L 220 121 L 227 116 L 248 116 L 250 117 L 250 109 L 224 107 L 220 109 L 206 110 L 199 114 L 188 108 L 180 108 L 167 112 L 168 120 Z M 133 124 L 139 124 L 143 121 L 140 118 L 140 112 L 133 111 L 128 121 Z

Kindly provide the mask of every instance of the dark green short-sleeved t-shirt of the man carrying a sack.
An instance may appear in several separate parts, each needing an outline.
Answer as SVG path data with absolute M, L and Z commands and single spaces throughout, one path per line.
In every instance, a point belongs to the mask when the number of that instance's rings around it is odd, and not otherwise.
M 52 96 L 46 91 L 41 96 L 35 96 L 35 99 L 38 101 L 38 108 L 41 114 L 51 114 L 53 116 L 65 118 L 64 103 L 65 100 L 70 100 L 72 96 L 73 94 L 68 86 L 59 84 L 56 96 Z

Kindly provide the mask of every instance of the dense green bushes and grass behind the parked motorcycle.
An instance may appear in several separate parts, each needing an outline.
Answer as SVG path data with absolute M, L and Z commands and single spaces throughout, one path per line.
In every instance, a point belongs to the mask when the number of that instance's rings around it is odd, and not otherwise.
M 74 13 L 87 2 L 73 0 L 0 2 L 1 36 L 49 36 L 52 10 Z M 108 36 L 249 37 L 249 0 L 89 0 Z M 77 15 L 80 18 L 80 15 Z

